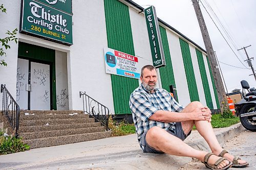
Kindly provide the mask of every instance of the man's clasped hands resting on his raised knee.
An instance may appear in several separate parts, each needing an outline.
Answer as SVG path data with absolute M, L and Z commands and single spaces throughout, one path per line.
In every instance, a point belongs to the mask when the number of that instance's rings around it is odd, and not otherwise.
M 208 122 L 211 122 L 211 111 L 207 106 L 202 108 L 196 108 L 193 111 L 193 115 L 194 120 L 206 120 Z

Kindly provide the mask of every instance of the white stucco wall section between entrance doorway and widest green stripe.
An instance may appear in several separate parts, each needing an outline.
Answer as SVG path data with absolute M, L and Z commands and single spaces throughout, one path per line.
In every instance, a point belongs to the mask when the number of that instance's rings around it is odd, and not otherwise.
M 107 47 L 103 1 L 73 1 L 73 43 L 70 50 L 73 110 L 81 109 L 79 91 L 114 113 L 111 77 L 105 73 L 103 47 Z M 69 87 L 70 89 L 70 87 Z

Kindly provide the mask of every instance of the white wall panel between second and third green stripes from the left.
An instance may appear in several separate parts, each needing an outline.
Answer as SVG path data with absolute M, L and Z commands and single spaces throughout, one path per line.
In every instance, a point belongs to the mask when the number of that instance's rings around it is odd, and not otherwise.
M 168 30 L 166 30 L 168 44 L 170 48 L 170 58 L 173 63 L 173 70 L 175 76 L 175 84 L 178 94 L 179 103 L 186 106 L 190 103 L 188 92 L 185 68 L 181 54 L 179 37 Z

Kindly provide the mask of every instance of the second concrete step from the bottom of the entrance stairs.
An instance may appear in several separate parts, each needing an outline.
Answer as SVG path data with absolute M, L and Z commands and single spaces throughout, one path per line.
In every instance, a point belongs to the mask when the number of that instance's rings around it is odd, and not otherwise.
M 19 133 L 19 135 L 22 136 L 24 140 L 31 140 L 31 139 L 38 139 L 38 138 L 78 135 L 78 134 L 84 134 L 84 133 L 104 132 L 104 131 L 105 131 L 104 127 L 90 127 L 90 128 L 81 128 L 81 129 L 26 132 L 26 133 Z

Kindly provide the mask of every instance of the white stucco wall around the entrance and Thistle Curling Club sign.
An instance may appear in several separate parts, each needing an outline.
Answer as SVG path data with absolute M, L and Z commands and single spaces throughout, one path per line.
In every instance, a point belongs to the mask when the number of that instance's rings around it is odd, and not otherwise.
M 0 25 L 1 37 L 5 37 L 7 30 L 19 28 L 20 16 L 20 1 L 3 4 L 7 14 L 0 13 L 0 18 L 2 23 L 8 24 Z M 19 33 L 18 40 L 67 53 L 69 109 L 82 110 L 79 91 L 86 91 L 114 112 L 111 79 L 105 74 L 103 58 L 103 47 L 108 46 L 103 1 L 73 1 L 73 14 L 74 45 L 70 47 Z M 12 42 L 7 51 L 8 66 L 0 66 L 1 83 L 7 85 L 13 96 L 16 94 L 17 53 L 18 45 Z

